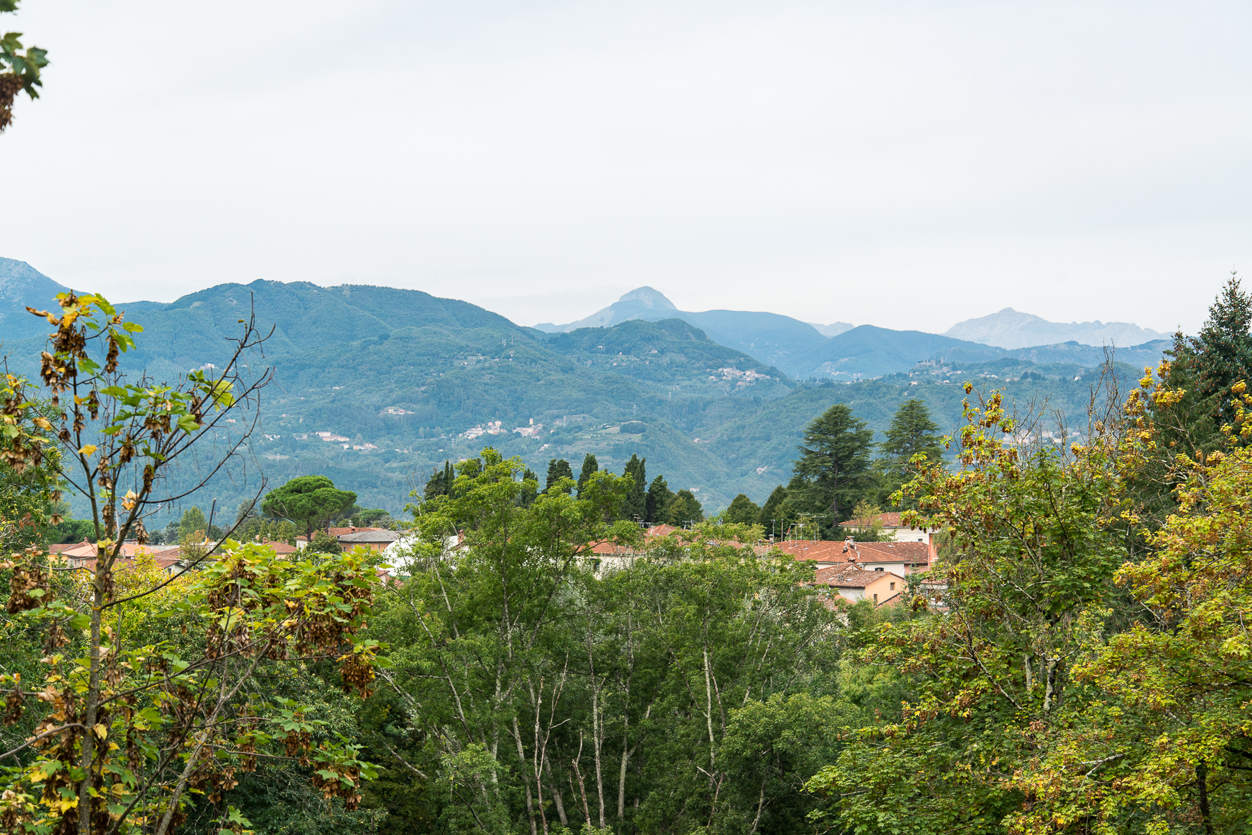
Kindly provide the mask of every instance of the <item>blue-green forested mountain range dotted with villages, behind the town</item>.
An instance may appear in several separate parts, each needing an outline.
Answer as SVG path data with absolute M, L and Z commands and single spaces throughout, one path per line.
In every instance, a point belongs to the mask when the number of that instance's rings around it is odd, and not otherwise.
M 10 369 L 38 373 L 48 325 L 23 308 L 46 308 L 63 289 L 0 259 Z M 1102 348 L 1077 342 L 1005 349 L 874 325 L 825 337 L 772 313 L 685 313 L 651 288 L 627 295 L 601 324 L 548 332 L 419 290 L 304 282 L 219 284 L 118 307 L 144 325 L 125 367 L 158 379 L 220 363 L 249 312 L 273 327 L 264 356 L 249 358 L 255 373 L 274 372 L 255 458 L 205 493 L 232 512 L 259 476 L 275 484 L 317 472 L 363 506 L 398 513 L 433 467 L 487 444 L 540 473 L 553 457 L 577 469 L 588 452 L 621 471 L 637 453 L 650 477 L 699 491 L 712 511 L 739 492 L 761 502 L 785 482 L 804 427 L 831 403 L 851 404 L 878 437 L 910 397 L 954 429 L 964 379 L 1085 416 L 1104 362 Z M 1164 344 L 1117 358 L 1142 367 Z

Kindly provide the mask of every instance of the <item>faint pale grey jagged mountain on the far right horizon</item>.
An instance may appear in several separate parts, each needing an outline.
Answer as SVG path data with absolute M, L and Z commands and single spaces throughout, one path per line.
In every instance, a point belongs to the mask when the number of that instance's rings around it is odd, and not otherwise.
M 1077 342 L 1083 346 L 1117 346 L 1129 348 L 1168 334 L 1151 328 L 1141 328 L 1133 322 L 1049 322 L 1033 313 L 1022 313 L 1010 307 L 999 313 L 965 319 L 944 332 L 945 337 L 980 342 L 997 348 L 1028 348 Z

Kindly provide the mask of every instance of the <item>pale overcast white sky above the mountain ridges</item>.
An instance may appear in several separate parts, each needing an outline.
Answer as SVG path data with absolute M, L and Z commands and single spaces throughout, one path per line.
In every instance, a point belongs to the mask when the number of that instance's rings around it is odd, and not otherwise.
M 1194 329 L 1252 270 L 1247 3 L 24 0 L 0 255 L 522 324 L 680 308 Z

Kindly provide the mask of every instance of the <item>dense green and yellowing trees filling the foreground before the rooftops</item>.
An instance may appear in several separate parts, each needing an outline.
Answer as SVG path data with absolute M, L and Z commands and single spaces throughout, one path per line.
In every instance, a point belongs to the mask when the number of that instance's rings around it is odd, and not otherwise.
M 1107 369 L 1079 429 L 972 382 L 947 439 L 920 398 L 878 444 L 826 403 L 767 501 L 664 537 L 640 522 L 696 497 L 641 457 L 487 446 L 411 491 L 386 556 L 233 538 L 366 520 L 318 477 L 173 570 L 123 546 L 149 540 L 169 462 L 235 454 L 214 426 L 249 379 L 125 383 L 140 329 L 99 297 L 59 305 L 40 383 L 3 393 L 5 831 L 1252 826 L 1236 279 L 1169 362 L 1133 386 Z M 94 498 L 90 565 L 44 547 L 70 491 Z M 896 605 L 838 598 L 761 525 L 831 536 L 871 506 L 942 543 Z

